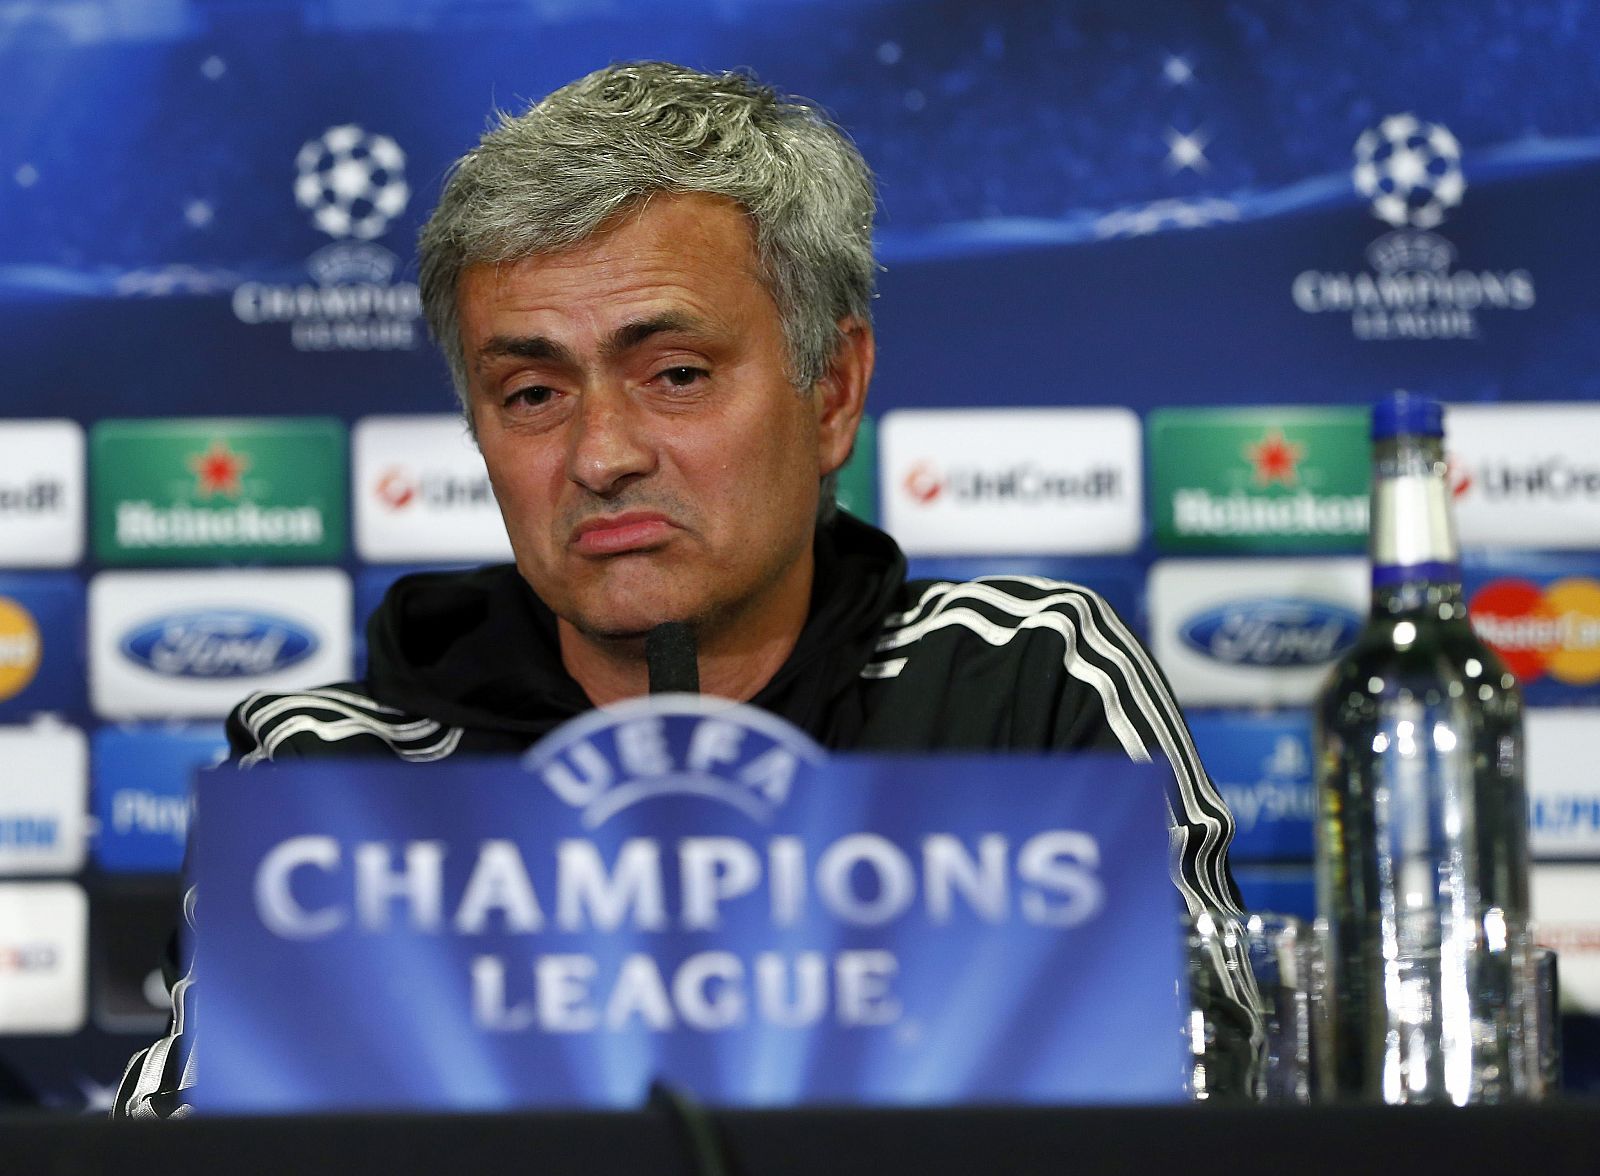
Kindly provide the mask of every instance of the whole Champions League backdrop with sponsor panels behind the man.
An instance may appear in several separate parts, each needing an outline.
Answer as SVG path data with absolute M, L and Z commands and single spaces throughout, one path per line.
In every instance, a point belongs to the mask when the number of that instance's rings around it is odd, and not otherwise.
M 818 99 L 883 181 L 883 435 L 858 445 L 850 507 L 941 576 L 1066 573 L 1138 622 L 1149 595 L 1206 755 L 1259 800 L 1246 854 L 1304 845 L 1290 736 L 1232 707 L 1301 722 L 1318 642 L 1363 611 L 1363 408 L 1397 386 L 1456 405 L 1474 610 L 1571 733 L 1530 725 L 1539 837 L 1568 838 L 1550 853 L 1576 872 L 1538 896 L 1595 902 L 1600 11 L 22 0 L 8 27 L 0 722 L 88 731 L 96 798 L 144 795 L 123 835 L 171 838 L 179 810 L 147 760 L 102 750 L 112 723 L 154 738 L 339 677 L 358 653 L 341 586 L 504 550 L 411 243 L 493 107 L 674 58 Z M 222 595 L 219 565 L 245 568 Z M 1306 584 L 1322 611 L 1285 605 Z M 88 859 L 157 869 L 109 845 Z M 1246 898 L 1309 906 L 1298 869 L 1246 862 Z M 42 1046 L 82 1010 L 24 1000 L 37 1021 L 0 1026 L 0 1058 L 98 1104 L 138 1042 L 115 1027 L 150 1016 L 125 997 Z M 1600 1085 L 1600 1056 L 1570 1062 Z

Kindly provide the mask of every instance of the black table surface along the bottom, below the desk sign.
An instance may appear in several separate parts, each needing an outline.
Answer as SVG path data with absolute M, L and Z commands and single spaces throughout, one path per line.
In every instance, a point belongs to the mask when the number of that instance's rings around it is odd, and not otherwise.
M 800 1109 L 710 1112 L 722 1168 L 669 1110 L 330 1115 L 168 1123 L 0 1120 L 0 1171 L 29 1176 L 1018 1176 L 1600 1171 L 1600 1101 L 1518 1107 Z M 1400 1168 L 1403 1163 L 1403 1168 Z

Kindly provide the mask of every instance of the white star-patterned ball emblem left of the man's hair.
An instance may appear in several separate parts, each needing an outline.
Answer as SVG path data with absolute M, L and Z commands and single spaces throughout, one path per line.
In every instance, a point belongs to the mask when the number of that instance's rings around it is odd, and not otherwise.
M 354 123 L 307 139 L 294 170 L 294 202 L 334 240 L 382 237 L 411 200 L 400 144 Z

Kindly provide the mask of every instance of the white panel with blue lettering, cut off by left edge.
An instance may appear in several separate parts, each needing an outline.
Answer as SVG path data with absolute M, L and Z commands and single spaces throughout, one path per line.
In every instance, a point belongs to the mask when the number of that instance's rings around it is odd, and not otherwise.
M 0 726 L 0 874 L 83 866 L 90 757 L 83 731 L 54 718 Z

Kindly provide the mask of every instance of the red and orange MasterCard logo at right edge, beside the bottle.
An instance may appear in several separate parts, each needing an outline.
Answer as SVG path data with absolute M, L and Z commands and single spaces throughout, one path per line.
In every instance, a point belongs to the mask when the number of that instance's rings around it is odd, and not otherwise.
M 1496 579 L 1467 602 L 1472 627 L 1523 682 L 1600 682 L 1600 581 Z

